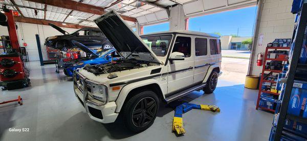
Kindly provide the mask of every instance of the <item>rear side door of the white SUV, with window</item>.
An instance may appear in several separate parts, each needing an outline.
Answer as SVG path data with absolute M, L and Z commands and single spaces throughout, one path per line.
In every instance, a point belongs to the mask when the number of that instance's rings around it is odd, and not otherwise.
M 210 66 L 210 48 L 209 40 L 203 36 L 194 36 L 194 47 L 195 47 L 195 68 L 194 68 L 194 79 L 193 83 L 200 83 L 204 80 L 208 68 Z

